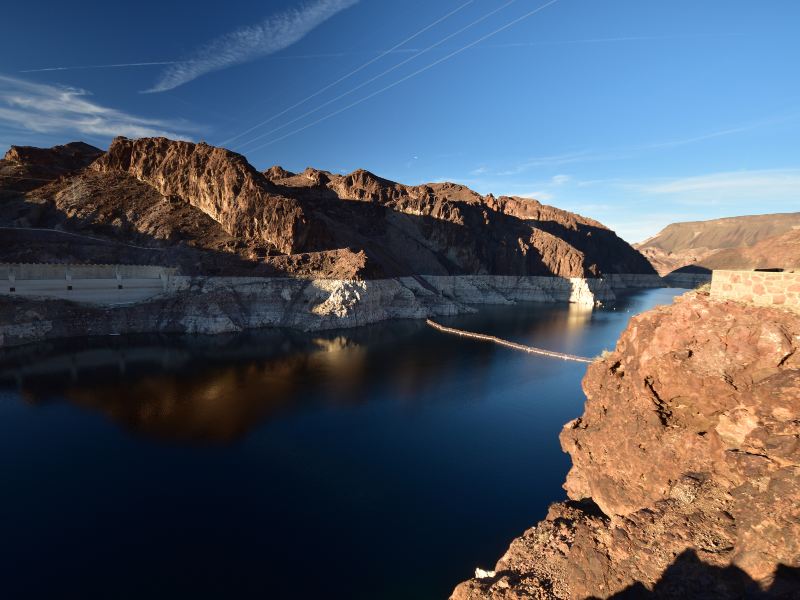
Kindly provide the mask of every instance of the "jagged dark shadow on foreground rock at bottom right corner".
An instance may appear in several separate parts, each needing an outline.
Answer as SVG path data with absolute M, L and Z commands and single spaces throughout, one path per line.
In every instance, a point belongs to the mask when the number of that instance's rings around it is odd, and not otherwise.
M 641 583 L 635 583 L 611 598 L 615 600 L 797 599 L 800 598 L 800 568 L 780 565 L 772 585 L 762 589 L 740 568 L 709 565 L 700 560 L 694 550 L 686 550 L 664 571 L 652 590 L 648 590 Z

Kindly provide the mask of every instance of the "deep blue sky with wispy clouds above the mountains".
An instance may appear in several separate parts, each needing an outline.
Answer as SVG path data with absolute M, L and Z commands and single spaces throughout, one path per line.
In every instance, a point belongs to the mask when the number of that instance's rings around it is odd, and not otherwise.
M 796 0 L 11 3 L 0 150 L 116 134 L 536 197 L 629 241 L 800 210 Z M 224 142 L 224 144 L 223 144 Z

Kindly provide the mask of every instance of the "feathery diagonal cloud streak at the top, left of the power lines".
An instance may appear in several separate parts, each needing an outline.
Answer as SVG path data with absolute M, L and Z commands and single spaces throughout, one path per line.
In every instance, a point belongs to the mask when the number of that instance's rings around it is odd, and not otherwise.
M 201 75 L 272 54 L 291 46 L 358 0 L 316 0 L 273 15 L 257 25 L 227 33 L 198 48 L 185 61 L 169 65 L 147 92 L 164 92 Z

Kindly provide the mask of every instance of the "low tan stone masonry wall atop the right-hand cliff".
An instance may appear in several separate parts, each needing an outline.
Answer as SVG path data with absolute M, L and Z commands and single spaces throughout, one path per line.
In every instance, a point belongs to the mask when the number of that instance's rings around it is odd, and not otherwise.
M 800 273 L 714 271 L 711 295 L 800 312 Z

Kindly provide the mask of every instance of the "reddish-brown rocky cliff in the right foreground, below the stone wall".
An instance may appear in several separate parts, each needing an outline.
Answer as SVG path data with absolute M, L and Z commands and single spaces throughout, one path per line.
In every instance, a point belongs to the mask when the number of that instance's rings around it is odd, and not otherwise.
M 569 501 L 454 600 L 796 598 L 800 318 L 692 293 L 583 380 Z

